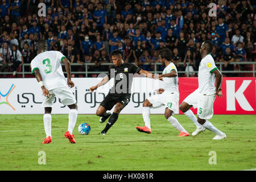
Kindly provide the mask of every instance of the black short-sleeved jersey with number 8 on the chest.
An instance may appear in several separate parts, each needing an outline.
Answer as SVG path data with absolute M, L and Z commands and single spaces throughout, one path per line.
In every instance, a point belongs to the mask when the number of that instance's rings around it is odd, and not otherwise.
M 133 74 L 139 73 L 141 68 L 130 63 L 123 63 L 119 67 L 114 65 L 110 67 L 108 72 L 109 80 L 114 78 L 114 86 L 109 90 L 112 96 L 123 96 L 123 94 L 131 93 L 131 83 L 133 82 Z

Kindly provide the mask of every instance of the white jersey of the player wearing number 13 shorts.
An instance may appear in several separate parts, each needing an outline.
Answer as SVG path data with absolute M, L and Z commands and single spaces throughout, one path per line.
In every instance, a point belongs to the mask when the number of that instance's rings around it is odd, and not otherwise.
M 172 70 L 177 72 L 177 68 L 174 63 L 170 63 L 163 70 L 163 74 L 171 73 Z M 163 77 L 164 92 L 176 92 L 179 93 L 179 79 L 178 77 Z

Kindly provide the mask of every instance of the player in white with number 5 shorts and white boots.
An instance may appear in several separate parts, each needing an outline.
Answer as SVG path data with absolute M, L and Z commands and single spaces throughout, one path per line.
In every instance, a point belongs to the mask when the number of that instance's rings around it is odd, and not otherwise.
M 199 66 L 198 82 L 199 88 L 191 93 L 180 105 L 180 110 L 196 125 L 196 131 L 192 133 L 192 136 L 196 136 L 201 132 L 208 129 L 216 134 L 213 139 L 226 138 L 225 133 L 216 129 L 207 119 L 211 119 L 213 116 L 213 103 L 216 98 L 223 97 L 221 92 L 222 75 L 218 71 L 214 59 L 210 52 L 212 52 L 213 43 L 206 40 L 201 45 L 202 60 Z M 215 85 L 216 77 L 216 87 Z M 197 108 L 197 119 L 190 110 L 191 107 Z

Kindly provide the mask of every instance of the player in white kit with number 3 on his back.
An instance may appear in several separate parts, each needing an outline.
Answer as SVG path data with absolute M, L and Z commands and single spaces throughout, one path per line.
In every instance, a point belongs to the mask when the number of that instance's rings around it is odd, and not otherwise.
M 64 77 L 61 63 L 65 65 L 67 80 Z M 76 98 L 70 89 L 75 84 L 71 81 L 71 64 L 68 59 L 59 51 L 47 51 L 47 42 L 45 40 L 39 40 L 38 55 L 31 61 L 31 70 L 43 90 L 43 121 L 44 130 L 46 131 L 46 138 L 43 143 L 52 142 L 51 112 L 55 96 L 59 97 L 61 103 L 70 109 L 68 115 L 68 131 L 64 136 L 69 139 L 69 142 L 76 143 L 73 129 L 77 119 L 77 104 Z

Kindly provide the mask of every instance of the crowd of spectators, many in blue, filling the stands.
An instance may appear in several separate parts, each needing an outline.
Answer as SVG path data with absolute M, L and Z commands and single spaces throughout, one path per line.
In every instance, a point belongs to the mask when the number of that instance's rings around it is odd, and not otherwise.
M 72 65 L 72 73 L 84 72 L 85 63 L 93 63 L 88 71 L 108 71 L 109 66 L 102 63 L 110 63 L 114 49 L 122 51 L 127 63 L 147 71 L 162 71 L 161 65 L 155 68 L 152 63 L 159 62 L 159 49 L 163 47 L 171 49 L 178 71 L 198 71 L 204 40 L 214 43 L 212 55 L 216 62 L 224 63 L 224 71 L 243 70 L 242 64 L 230 64 L 233 61 L 255 61 L 255 1 L 0 2 L 0 71 L 12 72 L 16 77 L 20 66 L 36 56 L 40 39 L 47 40 L 48 50 L 61 51 L 72 64 L 79 63 Z M 38 7 L 39 3 L 45 6 Z M 209 7 L 210 3 L 216 7 Z M 31 71 L 30 67 L 24 69 Z

